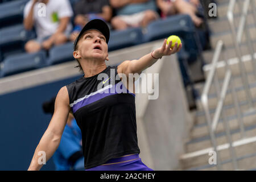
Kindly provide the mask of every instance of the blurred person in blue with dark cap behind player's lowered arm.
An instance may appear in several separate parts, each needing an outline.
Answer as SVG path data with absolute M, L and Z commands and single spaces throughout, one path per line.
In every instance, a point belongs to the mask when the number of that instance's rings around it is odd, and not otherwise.
M 44 113 L 54 113 L 55 97 L 43 103 Z M 59 147 L 53 154 L 57 171 L 84 170 L 82 134 L 73 115 L 69 113 Z

